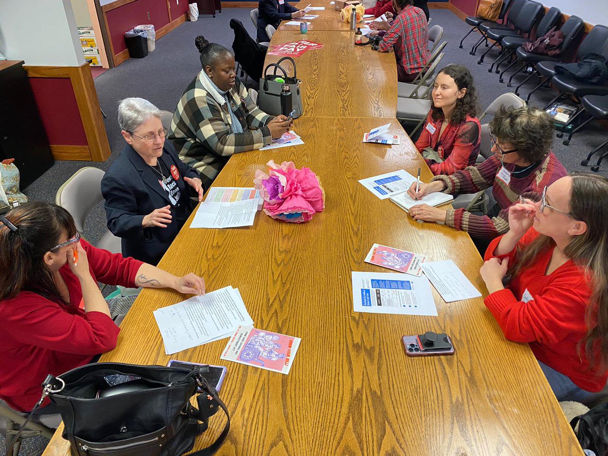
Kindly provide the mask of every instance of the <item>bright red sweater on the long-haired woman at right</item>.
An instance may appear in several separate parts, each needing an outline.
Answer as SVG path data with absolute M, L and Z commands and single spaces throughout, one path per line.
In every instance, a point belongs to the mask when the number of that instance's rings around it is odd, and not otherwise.
M 537 236 L 530 228 L 519 245 L 530 244 Z M 489 244 L 486 261 L 495 257 L 499 241 L 500 237 Z M 592 293 L 590 280 L 572 260 L 545 275 L 552 253 L 553 247 L 540 254 L 530 268 L 513 277 L 507 288 L 488 295 L 485 304 L 507 339 L 528 342 L 536 359 L 582 389 L 598 392 L 606 385 L 608 372 L 597 366 L 589 370 L 584 349 L 579 352 L 576 348 L 587 334 L 585 311 Z M 517 261 L 515 250 L 501 255 L 504 257 L 509 258 L 510 265 Z

